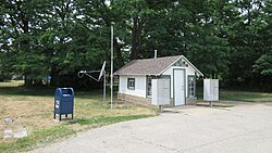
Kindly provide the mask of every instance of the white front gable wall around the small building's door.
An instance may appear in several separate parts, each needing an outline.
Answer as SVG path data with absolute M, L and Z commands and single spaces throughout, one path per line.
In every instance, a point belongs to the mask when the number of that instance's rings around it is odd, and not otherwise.
M 188 75 L 195 75 L 195 69 L 193 68 L 193 67 L 190 67 L 190 66 L 188 66 L 188 67 L 183 67 L 183 66 L 171 66 L 169 69 L 166 69 L 162 75 L 170 75 L 171 76 L 171 88 L 170 88 L 170 90 L 171 90 L 171 98 L 174 98 L 174 93 L 173 93 L 173 91 L 174 91 L 174 85 L 173 85 L 173 69 L 174 68 L 176 68 L 176 69 L 178 69 L 178 68 L 183 68 L 183 69 L 185 69 L 185 91 L 186 91 L 186 98 L 188 97 Z

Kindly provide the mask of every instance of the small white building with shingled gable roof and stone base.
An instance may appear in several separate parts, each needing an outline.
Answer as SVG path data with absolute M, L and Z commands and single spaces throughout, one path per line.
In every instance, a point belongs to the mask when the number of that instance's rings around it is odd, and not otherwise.
M 133 60 L 114 73 L 119 76 L 119 99 L 151 104 L 152 79 L 170 81 L 170 104 L 196 101 L 196 78 L 203 76 L 184 55 Z

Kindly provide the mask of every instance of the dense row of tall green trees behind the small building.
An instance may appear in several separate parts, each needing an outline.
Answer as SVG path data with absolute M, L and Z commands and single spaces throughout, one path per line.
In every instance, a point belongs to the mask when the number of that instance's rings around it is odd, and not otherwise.
M 157 50 L 231 87 L 271 85 L 271 14 L 269 0 L 3 0 L 0 75 L 78 85 L 79 69 L 109 63 L 114 26 L 114 69 Z

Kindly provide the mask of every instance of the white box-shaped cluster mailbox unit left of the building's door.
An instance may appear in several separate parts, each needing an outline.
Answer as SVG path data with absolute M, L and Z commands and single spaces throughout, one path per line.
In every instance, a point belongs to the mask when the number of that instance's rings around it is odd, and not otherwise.
M 170 104 L 170 79 L 152 79 L 152 104 Z

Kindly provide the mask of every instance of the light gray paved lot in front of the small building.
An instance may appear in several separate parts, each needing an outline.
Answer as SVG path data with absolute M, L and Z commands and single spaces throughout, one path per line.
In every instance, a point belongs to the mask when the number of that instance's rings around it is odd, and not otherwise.
M 272 103 L 228 109 L 185 106 L 180 113 L 78 133 L 36 153 L 271 153 Z

